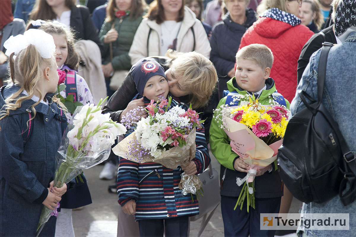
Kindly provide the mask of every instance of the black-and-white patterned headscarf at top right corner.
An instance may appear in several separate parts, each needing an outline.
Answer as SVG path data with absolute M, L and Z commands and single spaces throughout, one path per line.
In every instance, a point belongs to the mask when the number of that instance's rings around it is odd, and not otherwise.
M 341 36 L 351 26 L 356 26 L 356 0 L 340 0 L 335 10 L 336 36 Z

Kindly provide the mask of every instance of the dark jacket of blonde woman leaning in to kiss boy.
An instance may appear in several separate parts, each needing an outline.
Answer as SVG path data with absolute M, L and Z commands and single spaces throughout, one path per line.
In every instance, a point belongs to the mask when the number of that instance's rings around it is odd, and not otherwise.
M 167 71 L 172 64 L 174 59 L 170 59 L 164 56 L 152 57 L 155 59 L 164 69 Z M 132 100 L 133 97 L 137 94 L 135 82 L 133 82 L 131 73 L 126 76 L 124 82 L 122 82 L 121 86 L 115 91 L 114 95 L 112 95 L 103 109 L 103 113 L 110 113 L 110 117 L 114 121 L 118 121 L 121 112 L 127 107 L 127 104 Z M 178 97 L 181 102 L 188 103 L 190 101 L 190 96 L 182 96 Z M 193 108 L 195 111 L 200 113 L 201 119 L 206 119 L 204 122 L 205 127 L 205 138 L 206 142 L 209 142 L 209 127 L 211 123 L 211 119 L 213 118 L 213 110 L 218 106 L 219 98 L 218 93 L 213 92 L 210 96 L 208 105 L 201 108 Z M 120 122 L 120 121 L 118 121 Z

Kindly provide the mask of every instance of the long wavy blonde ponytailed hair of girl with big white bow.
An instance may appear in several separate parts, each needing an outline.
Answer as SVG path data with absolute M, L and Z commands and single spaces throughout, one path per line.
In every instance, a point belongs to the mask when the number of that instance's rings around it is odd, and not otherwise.
M 48 67 L 57 67 L 56 60 L 54 59 L 54 54 L 51 58 L 42 58 L 38 49 L 35 45 L 28 45 L 27 48 L 22 49 L 14 59 L 14 53 L 9 57 L 10 66 L 10 76 L 14 83 L 19 84 L 20 89 L 5 99 L 5 105 L 3 110 L 0 112 L 0 120 L 7 117 L 11 110 L 16 110 L 21 107 L 21 103 L 25 100 L 31 99 L 37 92 L 40 98 L 43 95 L 38 89 L 38 85 L 44 80 L 43 70 Z M 19 96 L 23 90 L 28 93 L 28 96 Z M 64 110 L 66 107 L 59 101 L 59 99 L 54 95 L 52 97 L 53 102 L 57 102 Z M 33 118 L 36 116 L 35 106 L 40 103 L 38 100 L 34 103 L 31 108 L 33 111 Z M 28 127 L 28 121 L 27 121 Z M 1 128 L 0 128 L 1 130 Z

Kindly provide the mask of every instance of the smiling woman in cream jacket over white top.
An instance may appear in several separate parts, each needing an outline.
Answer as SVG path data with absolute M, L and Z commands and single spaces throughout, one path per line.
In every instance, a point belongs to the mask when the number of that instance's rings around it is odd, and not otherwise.
M 210 44 L 201 22 L 183 0 L 155 0 L 138 26 L 130 48 L 131 64 L 147 56 L 164 56 L 167 49 L 197 51 L 207 58 Z

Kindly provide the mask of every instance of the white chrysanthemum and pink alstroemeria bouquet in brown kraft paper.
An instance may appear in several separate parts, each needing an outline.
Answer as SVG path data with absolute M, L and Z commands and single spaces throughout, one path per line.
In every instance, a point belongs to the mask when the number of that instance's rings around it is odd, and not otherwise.
M 137 163 L 156 162 L 170 169 L 189 165 L 195 157 L 195 127 L 200 127 L 201 121 L 192 108 L 170 108 L 171 101 L 172 97 L 160 103 L 152 100 L 145 108 L 148 117 L 141 120 L 136 116 L 140 109 L 123 116 L 121 123 L 135 130 L 112 149 L 114 153 Z M 179 187 L 183 195 L 197 194 L 201 182 L 196 175 L 182 173 Z

